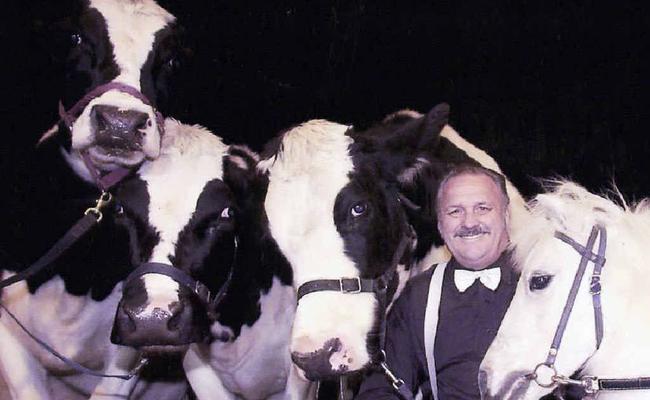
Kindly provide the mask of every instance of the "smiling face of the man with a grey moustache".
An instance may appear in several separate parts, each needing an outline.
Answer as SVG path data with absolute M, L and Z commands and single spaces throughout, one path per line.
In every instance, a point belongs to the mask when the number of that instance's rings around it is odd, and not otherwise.
M 496 261 L 508 245 L 507 205 L 496 183 L 463 174 L 440 190 L 438 230 L 454 258 L 474 270 Z

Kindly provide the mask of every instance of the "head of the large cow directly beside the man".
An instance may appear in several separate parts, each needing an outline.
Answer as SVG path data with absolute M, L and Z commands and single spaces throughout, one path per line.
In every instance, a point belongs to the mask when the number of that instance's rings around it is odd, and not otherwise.
M 269 178 L 270 230 L 294 272 L 291 351 L 307 378 L 377 359 L 385 312 L 403 287 L 414 244 L 400 188 L 430 164 L 421 150 L 435 147 L 447 116 L 440 105 L 367 132 L 310 121 L 278 137 L 258 164 Z M 376 290 L 354 293 L 357 282 Z

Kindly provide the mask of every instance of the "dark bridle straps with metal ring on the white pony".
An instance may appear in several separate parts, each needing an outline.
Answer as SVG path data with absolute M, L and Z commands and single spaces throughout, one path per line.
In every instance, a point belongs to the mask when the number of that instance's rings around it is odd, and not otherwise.
M 594 244 L 596 243 L 596 237 L 600 236 L 598 253 L 593 252 Z M 593 309 L 594 309 L 594 326 L 595 326 L 595 335 L 596 335 L 596 350 L 600 348 L 600 344 L 603 339 L 603 313 L 601 307 L 601 283 L 600 276 L 602 269 L 605 265 L 605 250 L 607 248 L 607 230 L 605 227 L 600 225 L 595 225 L 591 229 L 589 239 L 587 244 L 582 246 L 569 236 L 565 235 L 562 232 L 556 231 L 555 237 L 571 247 L 573 247 L 581 256 L 580 264 L 578 265 L 578 270 L 573 279 L 573 284 L 567 301 L 564 305 L 562 311 L 562 316 L 560 317 L 560 322 L 555 330 L 555 336 L 553 337 L 553 342 L 548 351 L 546 360 L 534 368 L 533 372 L 525 376 L 526 379 L 532 380 L 537 385 L 544 388 L 551 388 L 555 385 L 577 385 L 582 387 L 585 392 L 589 395 L 596 394 L 601 390 L 640 390 L 640 389 L 650 389 L 650 377 L 641 377 L 641 378 L 630 378 L 630 379 L 601 379 L 596 376 L 583 376 L 580 379 L 571 379 L 563 375 L 559 375 L 555 368 L 555 360 L 557 358 L 557 353 L 562 344 L 562 337 L 564 336 L 564 331 L 566 330 L 569 317 L 571 316 L 571 311 L 573 310 L 573 305 L 575 304 L 576 297 L 578 295 L 578 289 L 580 288 L 580 283 L 585 275 L 587 264 L 592 262 L 594 264 L 593 273 L 591 275 L 591 281 L 589 284 L 589 293 L 592 297 Z M 540 373 L 543 370 L 550 372 L 549 381 L 542 381 L 540 379 Z M 548 376 L 549 374 L 544 374 Z

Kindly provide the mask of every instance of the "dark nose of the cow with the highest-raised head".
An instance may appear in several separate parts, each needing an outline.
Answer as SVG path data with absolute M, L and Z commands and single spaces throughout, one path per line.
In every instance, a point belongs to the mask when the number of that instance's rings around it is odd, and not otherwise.
M 135 150 L 142 146 L 144 130 L 152 122 L 147 113 L 98 104 L 90 110 L 97 144 Z

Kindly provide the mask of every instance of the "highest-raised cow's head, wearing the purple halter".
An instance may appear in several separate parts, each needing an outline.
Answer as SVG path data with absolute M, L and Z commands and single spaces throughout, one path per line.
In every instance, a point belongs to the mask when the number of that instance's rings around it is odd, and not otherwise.
M 153 0 L 89 0 L 61 23 L 65 86 L 55 132 L 68 133 L 69 161 L 110 171 L 160 152 L 159 103 L 180 51 L 175 18 Z M 73 150 L 73 151 L 70 151 Z

